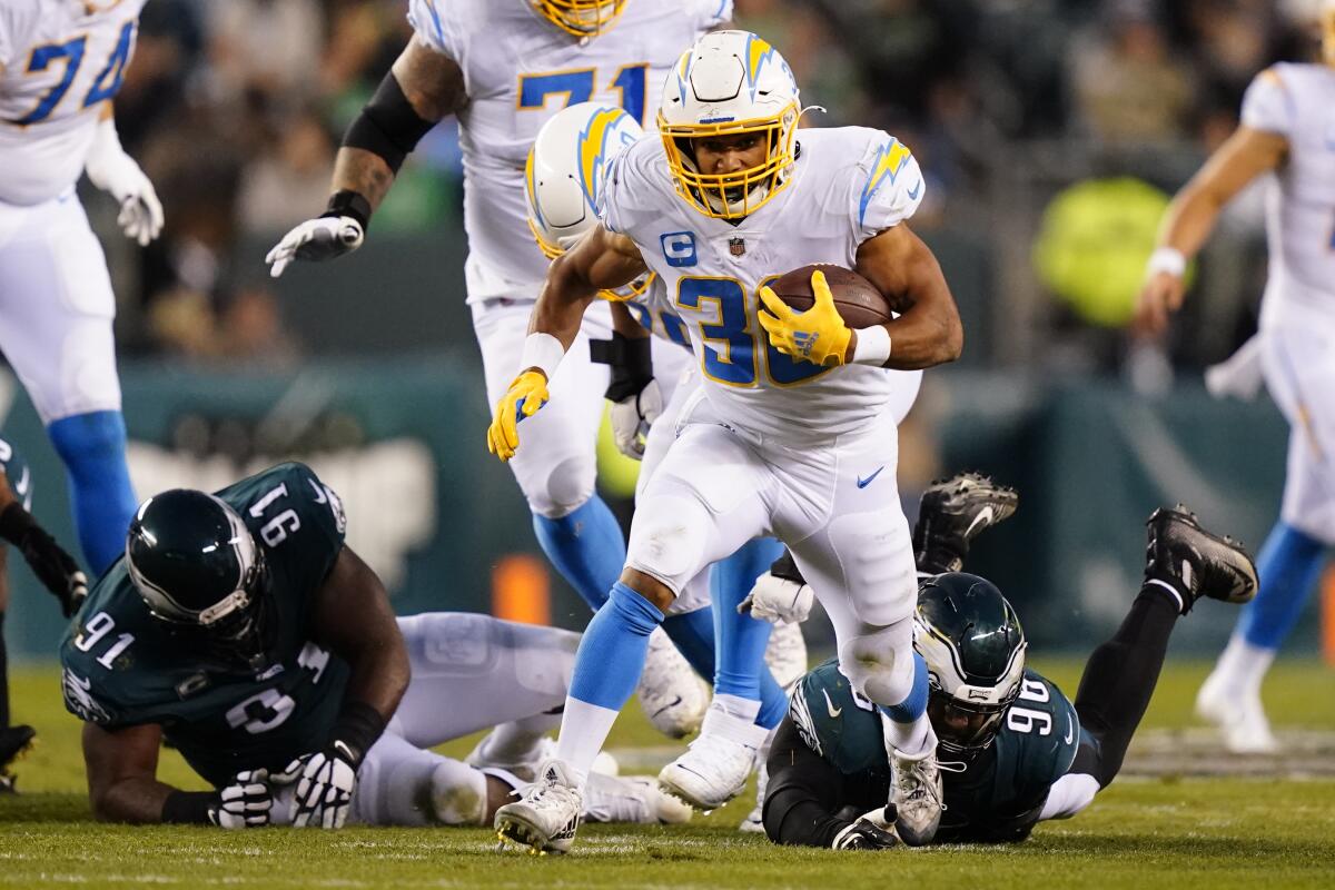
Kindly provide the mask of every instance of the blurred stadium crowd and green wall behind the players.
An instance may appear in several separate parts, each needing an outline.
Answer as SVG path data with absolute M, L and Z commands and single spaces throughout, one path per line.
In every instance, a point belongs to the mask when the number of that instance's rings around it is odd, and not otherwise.
M 453 123 L 405 167 L 355 256 L 278 282 L 262 262 L 323 207 L 338 135 L 409 37 L 405 5 L 144 9 L 117 125 L 163 199 L 163 239 L 136 247 L 111 200 L 84 195 L 119 299 L 136 488 L 219 487 L 298 456 L 343 495 L 350 540 L 400 612 L 497 608 L 582 627 L 587 611 L 555 579 L 546 615 L 515 604 L 546 570 L 483 443 Z M 1183 499 L 1252 546 L 1274 520 L 1279 414 L 1264 395 L 1216 402 L 1200 384 L 1255 323 L 1260 191 L 1230 208 L 1172 339 L 1135 344 L 1124 326 L 1167 195 L 1231 132 L 1251 76 L 1311 51 L 1300 5 L 737 0 L 738 23 L 774 43 L 804 100 L 828 109 L 812 119 L 890 129 L 922 163 L 914 228 L 952 283 L 967 347 L 959 366 L 926 375 L 904 430 L 901 491 L 912 516 L 940 472 L 977 468 L 1020 487 L 1017 518 L 973 567 L 1040 646 L 1087 650 L 1115 626 L 1155 506 Z M 0 408 L 37 474 L 37 515 L 72 542 L 60 464 L 12 378 Z M 627 472 L 611 462 L 606 494 L 623 499 Z M 25 568 L 12 574 L 11 651 L 49 658 L 57 610 Z M 1319 644 L 1318 599 L 1295 651 Z M 1231 618 L 1185 623 L 1176 650 L 1218 648 Z

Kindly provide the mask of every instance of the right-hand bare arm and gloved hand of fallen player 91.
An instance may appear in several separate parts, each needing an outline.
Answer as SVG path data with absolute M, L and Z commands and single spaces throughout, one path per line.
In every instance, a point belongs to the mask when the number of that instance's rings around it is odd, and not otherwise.
M 352 809 L 356 770 L 409 686 L 409 654 L 384 584 L 350 547 L 316 594 L 315 640 L 352 669 L 324 747 L 274 777 L 296 785 L 292 825 L 340 829 Z

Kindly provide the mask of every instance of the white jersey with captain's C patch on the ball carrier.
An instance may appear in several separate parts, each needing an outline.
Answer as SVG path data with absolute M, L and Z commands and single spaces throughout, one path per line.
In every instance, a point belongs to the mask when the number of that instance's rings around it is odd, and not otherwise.
M 864 127 L 800 129 L 792 181 L 732 226 L 674 188 L 662 143 L 642 139 L 607 169 L 601 216 L 639 247 L 686 326 L 721 416 L 780 438 L 840 435 L 884 414 L 902 375 L 824 368 L 769 344 L 761 284 L 809 263 L 852 268 L 858 246 L 917 209 L 924 181 L 909 149 Z

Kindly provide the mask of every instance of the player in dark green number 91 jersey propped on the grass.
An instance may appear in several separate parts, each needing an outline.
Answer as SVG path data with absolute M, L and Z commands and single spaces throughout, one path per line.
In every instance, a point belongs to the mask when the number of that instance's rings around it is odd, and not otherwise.
M 230 829 L 490 825 L 559 721 L 578 635 L 483 615 L 395 620 L 299 463 L 140 504 L 65 638 L 93 813 Z M 411 667 L 411 682 L 409 673 Z M 461 763 L 426 750 L 495 726 Z M 156 779 L 166 741 L 214 791 Z M 684 821 L 651 779 L 601 775 L 585 818 Z

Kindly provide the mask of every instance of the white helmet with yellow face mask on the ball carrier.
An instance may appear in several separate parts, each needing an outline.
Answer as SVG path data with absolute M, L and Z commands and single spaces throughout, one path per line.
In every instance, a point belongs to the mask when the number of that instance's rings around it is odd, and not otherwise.
M 706 33 L 668 75 L 658 109 L 677 192 L 705 216 L 756 212 L 789 180 L 800 115 L 797 80 L 777 49 L 748 31 Z M 764 136 L 764 161 L 730 173 L 700 169 L 692 140 L 740 133 Z

